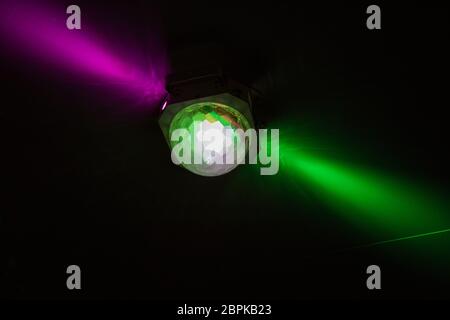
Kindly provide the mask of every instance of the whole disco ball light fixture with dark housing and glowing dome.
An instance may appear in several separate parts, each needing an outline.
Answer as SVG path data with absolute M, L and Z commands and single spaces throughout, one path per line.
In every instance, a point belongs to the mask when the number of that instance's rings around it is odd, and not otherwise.
M 237 150 L 246 152 L 249 143 L 255 143 L 242 135 L 254 128 L 251 90 L 221 75 L 208 75 L 169 82 L 168 91 L 159 124 L 172 160 L 175 157 L 185 169 L 201 176 L 220 176 L 235 169 L 243 160 Z M 180 142 L 173 139 L 178 129 L 188 133 L 184 138 L 189 140 L 189 163 L 174 152 Z M 227 161 L 230 153 L 232 162 Z

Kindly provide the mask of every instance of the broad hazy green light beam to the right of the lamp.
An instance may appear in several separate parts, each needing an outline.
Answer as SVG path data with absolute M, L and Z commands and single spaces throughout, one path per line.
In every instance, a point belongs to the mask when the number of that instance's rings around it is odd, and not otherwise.
M 282 170 L 361 231 L 386 237 L 450 225 L 446 206 L 427 188 L 344 164 L 333 155 L 318 155 L 317 149 L 304 147 L 295 138 L 281 137 Z

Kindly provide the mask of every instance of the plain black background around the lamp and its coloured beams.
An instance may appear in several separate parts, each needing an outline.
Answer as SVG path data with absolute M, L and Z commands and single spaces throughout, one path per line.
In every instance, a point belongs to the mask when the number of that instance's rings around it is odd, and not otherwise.
M 158 24 L 170 56 L 226 48 L 246 81 L 272 77 L 262 123 L 313 119 L 362 158 L 448 191 L 446 8 L 379 4 L 382 30 L 370 31 L 371 3 L 78 2 L 136 42 Z M 448 235 L 411 240 L 442 261 L 402 244 L 336 252 L 367 239 L 319 201 L 256 170 L 177 168 L 154 115 L 123 115 L 106 91 L 1 57 L 3 297 L 449 297 Z M 66 288 L 71 264 L 81 291 Z M 365 286 L 370 264 L 381 291 Z

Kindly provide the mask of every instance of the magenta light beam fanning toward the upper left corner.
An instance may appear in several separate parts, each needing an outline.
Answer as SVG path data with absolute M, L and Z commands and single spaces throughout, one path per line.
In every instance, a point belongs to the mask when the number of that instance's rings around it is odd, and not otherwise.
M 0 4 L 0 37 L 6 41 L 6 48 L 58 72 L 70 71 L 96 84 L 114 86 L 140 102 L 152 103 L 164 97 L 165 64 L 161 56 L 151 57 L 150 68 L 133 64 L 118 55 L 123 50 L 106 48 L 86 23 L 81 30 L 68 30 L 66 18 L 65 10 L 4 1 Z

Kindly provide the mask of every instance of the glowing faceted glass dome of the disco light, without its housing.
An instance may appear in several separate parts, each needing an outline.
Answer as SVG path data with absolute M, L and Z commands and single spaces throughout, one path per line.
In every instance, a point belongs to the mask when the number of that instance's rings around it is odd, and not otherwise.
M 190 145 L 190 163 L 182 163 L 189 171 L 202 176 L 225 174 L 239 165 L 236 152 L 243 147 L 247 150 L 243 136 L 236 134 L 237 129 L 244 132 L 251 128 L 249 121 L 236 109 L 216 102 L 200 102 L 185 107 L 173 118 L 169 137 L 177 129 L 186 129 Z M 171 141 L 173 149 L 180 141 Z M 227 155 L 234 153 L 230 163 Z M 244 154 L 245 155 L 245 154 Z M 182 156 L 175 153 L 172 156 Z

